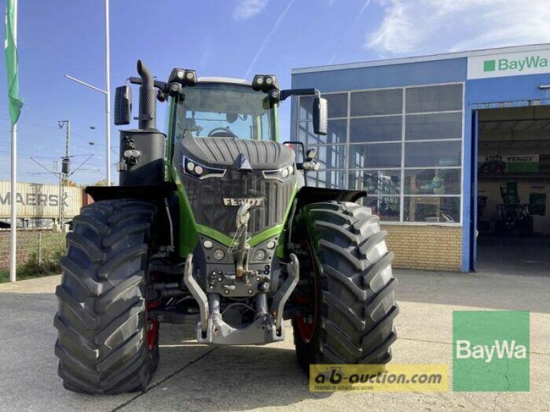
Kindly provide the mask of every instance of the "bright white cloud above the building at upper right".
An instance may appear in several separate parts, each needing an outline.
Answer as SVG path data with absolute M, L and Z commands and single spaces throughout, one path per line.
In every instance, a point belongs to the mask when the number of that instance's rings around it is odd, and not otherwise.
M 365 49 L 420 54 L 550 41 L 548 0 L 379 0 Z

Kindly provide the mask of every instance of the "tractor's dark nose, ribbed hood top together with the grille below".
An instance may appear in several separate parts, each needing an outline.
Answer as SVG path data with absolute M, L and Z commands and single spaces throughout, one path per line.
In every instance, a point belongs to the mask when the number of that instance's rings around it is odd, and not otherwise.
M 244 202 L 254 204 L 250 236 L 284 223 L 296 166 L 285 176 L 278 172 L 294 163 L 291 148 L 274 141 L 195 137 L 179 141 L 173 161 L 198 225 L 232 238 L 236 212 Z M 201 165 L 204 172 L 189 172 L 185 162 Z

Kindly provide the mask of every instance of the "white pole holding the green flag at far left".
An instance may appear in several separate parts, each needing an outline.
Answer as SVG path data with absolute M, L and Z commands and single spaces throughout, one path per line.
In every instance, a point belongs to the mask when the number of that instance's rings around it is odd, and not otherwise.
M 13 1 L 13 43 L 17 47 L 17 0 Z M 10 190 L 10 282 L 17 280 L 17 122 L 12 125 L 12 187 Z

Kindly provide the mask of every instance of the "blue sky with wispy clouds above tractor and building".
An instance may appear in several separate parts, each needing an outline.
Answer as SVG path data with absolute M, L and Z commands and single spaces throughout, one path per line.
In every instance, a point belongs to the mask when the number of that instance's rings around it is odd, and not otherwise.
M 5 9 L 5 0 L 0 5 Z M 110 6 L 111 91 L 137 76 L 138 58 L 160 80 L 185 67 L 198 76 L 248 80 L 274 73 L 285 88 L 296 67 L 550 43 L 549 0 L 111 0 Z M 21 0 L 17 40 L 25 103 L 18 181 L 56 183 L 30 157 L 52 170 L 65 153 L 65 130 L 58 127 L 65 119 L 73 168 L 93 155 L 71 179 L 82 185 L 104 179 L 104 95 L 64 77 L 104 89 L 104 1 Z M 0 180 L 9 180 L 5 64 L 0 71 Z M 290 130 L 289 106 L 281 106 L 282 139 Z M 164 105 L 157 107 L 164 130 Z M 112 122 L 111 139 L 115 163 Z

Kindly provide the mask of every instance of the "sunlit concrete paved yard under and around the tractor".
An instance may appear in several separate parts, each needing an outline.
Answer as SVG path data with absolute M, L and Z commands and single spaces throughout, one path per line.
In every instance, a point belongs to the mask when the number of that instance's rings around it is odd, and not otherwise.
M 145 393 L 83 396 L 56 374 L 53 295 L 59 277 L 0 285 L 0 411 L 547 411 L 550 293 L 547 277 L 397 271 L 395 363 L 452 363 L 452 311 L 531 310 L 529 393 L 310 393 L 292 331 L 263 347 L 212 348 L 192 331 L 164 327 L 161 363 Z

